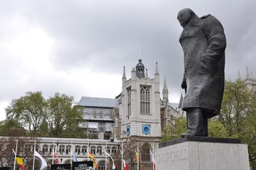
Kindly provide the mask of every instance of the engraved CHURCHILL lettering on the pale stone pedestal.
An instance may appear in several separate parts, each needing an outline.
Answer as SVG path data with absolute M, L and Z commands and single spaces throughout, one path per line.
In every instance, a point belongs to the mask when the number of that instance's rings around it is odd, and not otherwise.
M 156 155 L 157 164 L 188 160 L 188 150 L 168 151 Z

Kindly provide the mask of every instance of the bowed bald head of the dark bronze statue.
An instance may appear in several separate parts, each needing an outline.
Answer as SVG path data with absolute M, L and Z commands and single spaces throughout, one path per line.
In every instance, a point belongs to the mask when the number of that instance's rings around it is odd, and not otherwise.
M 193 12 L 189 8 L 184 8 L 183 10 L 180 10 L 180 12 L 177 15 L 177 19 L 180 22 L 180 26 L 185 27 L 189 20 L 191 20 L 195 15 L 195 12 Z

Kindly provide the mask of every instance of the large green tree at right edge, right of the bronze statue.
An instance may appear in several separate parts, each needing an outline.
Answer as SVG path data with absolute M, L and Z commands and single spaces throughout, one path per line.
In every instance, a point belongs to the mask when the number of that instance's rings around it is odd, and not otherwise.
M 228 137 L 248 144 L 249 160 L 256 168 L 256 96 L 241 79 L 225 82 L 219 120 Z

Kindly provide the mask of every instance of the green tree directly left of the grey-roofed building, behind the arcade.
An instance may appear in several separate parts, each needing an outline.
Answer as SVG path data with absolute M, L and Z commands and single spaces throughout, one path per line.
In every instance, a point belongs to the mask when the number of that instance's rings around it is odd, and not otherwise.
M 47 100 L 49 135 L 51 137 L 84 137 L 83 112 L 74 107 L 74 98 L 65 94 L 55 93 L 54 97 Z

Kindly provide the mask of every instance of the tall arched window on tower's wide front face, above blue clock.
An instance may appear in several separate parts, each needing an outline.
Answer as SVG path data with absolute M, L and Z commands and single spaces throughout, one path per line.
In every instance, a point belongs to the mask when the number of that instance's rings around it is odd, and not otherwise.
M 140 113 L 150 114 L 150 88 L 140 88 Z

